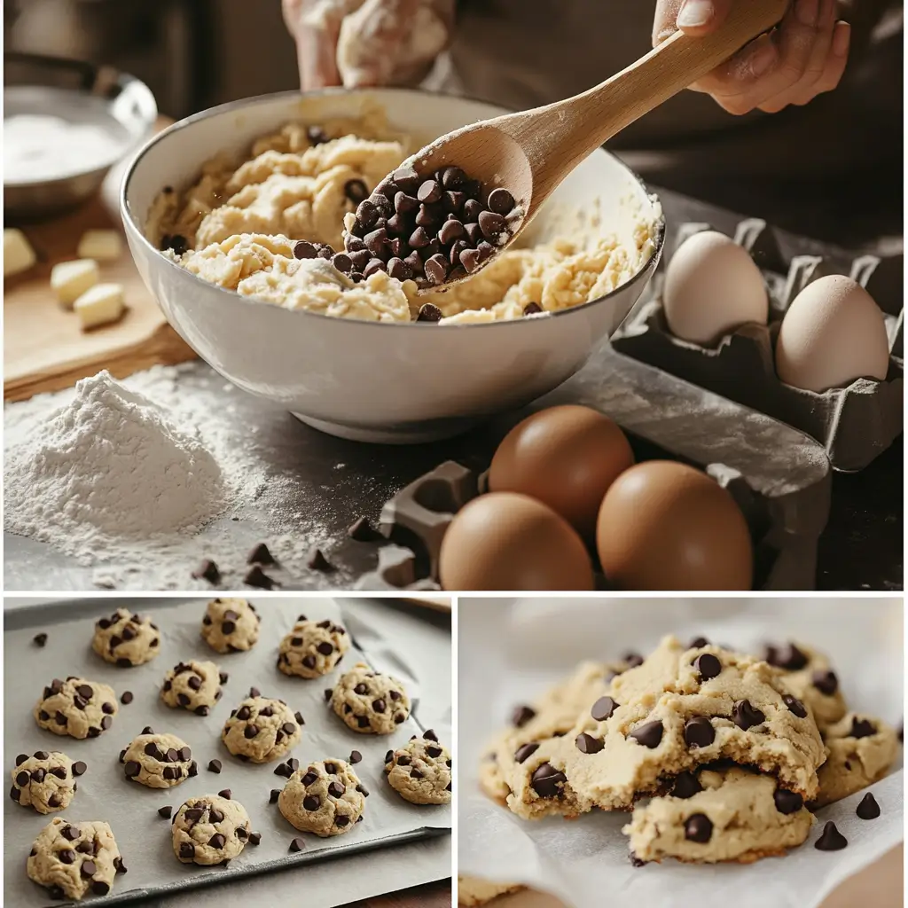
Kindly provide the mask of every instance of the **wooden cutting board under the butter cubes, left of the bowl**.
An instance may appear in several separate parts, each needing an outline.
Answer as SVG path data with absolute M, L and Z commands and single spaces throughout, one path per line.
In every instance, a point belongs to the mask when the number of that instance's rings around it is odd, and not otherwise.
M 100 195 L 50 221 L 5 226 L 20 227 L 38 256 L 30 271 L 4 281 L 5 400 L 69 388 L 102 369 L 122 379 L 159 363 L 194 359 L 146 290 L 125 238 L 116 262 L 99 262 L 102 281 L 123 284 L 127 311 L 121 321 L 82 331 L 74 313 L 56 301 L 50 288 L 54 264 L 77 257 L 86 230 L 120 229 Z

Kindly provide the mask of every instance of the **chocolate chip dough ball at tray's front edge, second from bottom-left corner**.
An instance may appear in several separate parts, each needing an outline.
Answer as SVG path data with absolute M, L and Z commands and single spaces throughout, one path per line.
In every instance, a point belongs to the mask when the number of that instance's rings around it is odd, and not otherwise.
M 173 854 L 181 864 L 226 864 L 242 853 L 252 827 L 230 792 L 191 797 L 173 817 Z

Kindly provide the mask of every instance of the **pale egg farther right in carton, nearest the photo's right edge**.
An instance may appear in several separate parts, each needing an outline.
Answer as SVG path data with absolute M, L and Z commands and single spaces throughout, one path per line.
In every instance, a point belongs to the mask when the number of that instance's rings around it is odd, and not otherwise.
M 785 312 L 775 370 L 785 384 L 818 394 L 856 379 L 882 381 L 889 370 L 883 312 L 844 274 L 808 284 Z

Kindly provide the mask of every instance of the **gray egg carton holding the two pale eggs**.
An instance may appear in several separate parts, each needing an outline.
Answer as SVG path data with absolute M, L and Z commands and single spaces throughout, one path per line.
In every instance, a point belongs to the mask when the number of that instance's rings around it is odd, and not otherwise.
M 682 242 L 706 230 L 725 232 L 750 252 L 770 297 L 768 326 L 744 325 L 711 349 L 676 338 L 660 299 L 666 262 Z M 883 381 L 858 379 L 847 388 L 817 394 L 779 380 L 775 338 L 795 296 L 829 274 L 851 276 L 883 310 L 889 372 Z M 627 356 L 801 429 L 824 446 L 834 469 L 856 471 L 882 454 L 903 430 L 903 318 L 902 255 L 856 256 L 778 231 L 757 218 L 739 221 L 730 230 L 684 222 L 666 242 L 646 300 L 628 316 L 612 343 Z

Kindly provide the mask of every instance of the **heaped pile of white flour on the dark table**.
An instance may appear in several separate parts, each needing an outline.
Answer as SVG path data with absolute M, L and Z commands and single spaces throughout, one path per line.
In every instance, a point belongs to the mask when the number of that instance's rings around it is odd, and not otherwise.
M 107 371 L 7 451 L 5 527 L 80 554 L 100 538 L 194 533 L 225 507 L 221 468 Z

